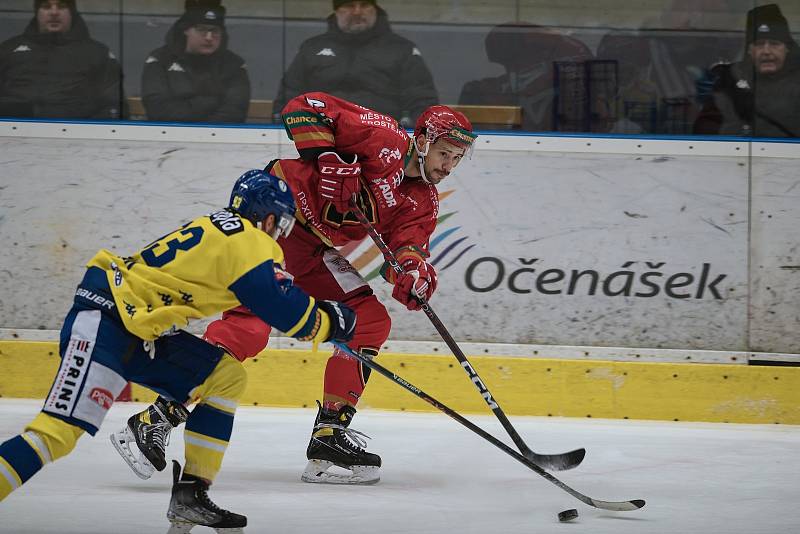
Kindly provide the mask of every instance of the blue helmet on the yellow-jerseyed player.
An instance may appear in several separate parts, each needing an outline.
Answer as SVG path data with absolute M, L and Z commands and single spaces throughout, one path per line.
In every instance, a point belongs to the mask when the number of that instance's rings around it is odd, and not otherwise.
M 294 197 L 289 186 L 268 172 L 253 169 L 236 180 L 228 208 L 258 226 L 267 215 L 275 215 L 272 237 L 288 237 L 294 227 Z

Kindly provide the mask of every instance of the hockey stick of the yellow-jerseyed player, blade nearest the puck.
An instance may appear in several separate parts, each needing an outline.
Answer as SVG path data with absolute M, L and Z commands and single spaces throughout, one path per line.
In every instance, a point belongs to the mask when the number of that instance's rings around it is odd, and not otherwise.
M 630 500 L 630 501 L 601 501 L 599 499 L 593 499 L 591 497 L 588 497 L 588 496 L 584 495 L 583 493 L 572 489 L 571 487 L 567 486 L 566 484 L 561 482 L 559 479 L 557 479 L 556 477 L 554 477 L 553 475 L 551 475 L 550 473 L 548 473 L 547 471 L 542 469 L 538 464 L 534 463 L 529 458 L 526 458 L 525 456 L 521 455 L 520 453 L 518 453 L 517 451 L 515 451 L 514 449 L 512 449 L 511 447 L 509 447 L 508 445 L 506 445 L 502 441 L 500 441 L 499 439 L 495 438 L 494 436 L 492 436 L 491 434 L 489 434 L 488 432 L 483 430 L 478 425 L 472 423 L 471 421 L 466 419 L 464 416 L 460 415 L 458 412 L 455 412 L 452 409 L 448 408 L 447 406 L 445 406 L 444 404 L 442 404 L 438 400 L 434 399 L 433 397 L 431 397 L 430 395 L 428 395 L 427 393 L 425 393 L 424 391 L 419 389 L 417 386 L 415 386 L 412 383 L 408 382 L 407 380 L 397 376 L 396 374 L 394 374 L 393 372 L 389 371 L 387 368 L 385 368 L 382 365 L 380 365 L 379 363 L 375 362 L 374 360 L 372 360 L 368 356 L 365 356 L 365 355 L 363 355 L 363 354 L 361 354 L 359 352 L 354 351 L 353 349 L 351 349 L 347 345 L 344 345 L 343 343 L 334 342 L 333 344 L 336 345 L 339 348 L 339 350 L 342 350 L 342 351 L 346 352 L 347 354 L 349 354 L 350 356 L 352 356 L 353 358 L 356 358 L 358 361 L 360 361 L 361 363 L 363 363 L 364 365 L 366 365 L 367 367 L 369 367 L 373 371 L 376 371 L 376 372 L 382 374 L 383 376 L 385 376 L 389 380 L 392 380 L 394 383 L 404 387 L 405 389 L 407 389 L 408 391 L 410 391 L 411 393 L 413 393 L 414 395 L 416 395 L 420 399 L 424 400 L 425 402 L 427 402 L 428 404 L 430 404 L 431 406 L 433 406 L 437 410 L 439 410 L 441 412 L 444 412 L 445 415 L 455 419 L 456 421 L 458 421 L 459 423 L 461 423 L 462 425 L 464 425 L 468 429 L 472 430 L 474 433 L 478 434 L 480 437 L 482 437 L 483 439 L 485 439 L 486 441 L 488 441 L 489 443 L 491 443 L 492 445 L 494 445 L 495 447 L 497 447 L 501 451 L 505 452 L 506 454 L 508 454 L 509 456 L 511 456 L 512 458 L 514 458 L 518 462 L 520 462 L 521 464 L 525 465 L 531 471 L 534 471 L 534 472 L 536 472 L 536 474 L 538 474 L 538 475 L 544 477 L 545 479 L 549 480 L 550 482 L 552 482 L 553 484 L 555 484 L 556 486 L 558 486 L 562 490 L 566 491 L 567 493 L 569 493 L 570 495 L 572 495 L 573 497 L 575 497 L 579 501 L 581 501 L 581 502 L 583 502 L 585 504 L 588 504 L 589 506 L 594 506 L 595 508 L 600 508 L 601 510 L 612 510 L 612 511 L 615 511 L 615 512 L 627 512 L 627 511 L 630 511 L 630 510 L 638 510 L 639 508 L 644 506 L 645 502 L 642 499 L 633 499 L 633 500 Z

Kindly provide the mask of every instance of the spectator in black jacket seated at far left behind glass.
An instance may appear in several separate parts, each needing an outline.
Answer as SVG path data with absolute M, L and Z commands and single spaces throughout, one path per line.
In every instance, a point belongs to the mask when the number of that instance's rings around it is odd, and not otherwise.
M 0 44 L 0 115 L 118 119 L 122 71 L 89 36 L 75 0 L 36 0 L 22 35 Z

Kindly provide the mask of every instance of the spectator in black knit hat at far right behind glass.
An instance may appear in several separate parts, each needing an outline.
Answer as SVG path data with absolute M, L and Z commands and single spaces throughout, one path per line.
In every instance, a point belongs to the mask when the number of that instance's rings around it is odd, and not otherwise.
M 800 49 L 777 4 L 747 12 L 746 40 L 744 60 L 712 67 L 713 99 L 695 132 L 800 136 Z

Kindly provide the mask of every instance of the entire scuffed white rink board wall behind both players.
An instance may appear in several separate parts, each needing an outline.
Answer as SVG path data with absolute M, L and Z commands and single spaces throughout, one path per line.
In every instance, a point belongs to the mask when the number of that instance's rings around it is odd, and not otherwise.
M 60 327 L 96 250 L 135 251 L 226 205 L 245 170 L 292 155 L 179 141 L 0 138 L 0 148 L 0 325 L 28 329 Z M 800 289 L 797 160 L 754 165 L 751 208 L 747 154 L 665 152 L 477 150 L 463 161 L 439 186 L 430 242 L 431 304 L 452 335 L 800 352 L 789 297 Z M 390 308 L 391 339 L 439 340 L 423 313 L 392 301 L 369 238 L 341 253 Z

